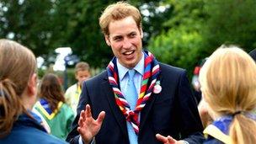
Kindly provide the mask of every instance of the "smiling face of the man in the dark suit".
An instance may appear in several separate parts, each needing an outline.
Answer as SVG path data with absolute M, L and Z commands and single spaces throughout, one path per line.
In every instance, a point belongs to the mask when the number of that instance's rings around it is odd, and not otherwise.
M 142 30 L 130 16 L 110 22 L 109 35 L 105 35 L 105 40 L 120 64 L 132 68 L 141 60 L 142 37 Z

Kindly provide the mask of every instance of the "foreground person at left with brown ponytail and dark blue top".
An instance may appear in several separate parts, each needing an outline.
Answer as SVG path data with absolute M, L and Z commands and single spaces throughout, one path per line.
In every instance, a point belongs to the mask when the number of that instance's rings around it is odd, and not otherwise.
M 36 102 L 34 54 L 12 40 L 0 40 L 0 143 L 66 143 L 50 136 L 31 110 Z

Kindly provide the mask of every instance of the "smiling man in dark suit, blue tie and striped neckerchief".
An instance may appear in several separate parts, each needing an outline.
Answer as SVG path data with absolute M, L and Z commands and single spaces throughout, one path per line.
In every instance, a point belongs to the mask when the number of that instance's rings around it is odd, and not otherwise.
M 162 143 L 156 136 L 161 134 L 172 136 L 173 143 L 202 143 L 203 127 L 186 72 L 142 50 L 139 10 L 114 3 L 99 24 L 115 57 L 106 71 L 83 83 L 67 141 L 155 144 Z

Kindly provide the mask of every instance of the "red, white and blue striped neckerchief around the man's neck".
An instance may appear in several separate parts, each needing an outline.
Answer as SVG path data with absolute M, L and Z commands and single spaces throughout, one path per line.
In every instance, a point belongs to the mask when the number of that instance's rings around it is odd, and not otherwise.
M 160 73 L 160 67 L 158 61 L 149 51 L 143 51 L 144 59 L 144 73 L 141 81 L 141 91 L 136 102 L 136 108 L 131 110 L 130 105 L 126 101 L 124 94 L 119 88 L 118 70 L 116 66 L 116 57 L 109 62 L 107 67 L 109 84 L 111 85 L 115 94 L 115 103 L 119 106 L 125 119 L 131 122 L 131 125 L 136 132 L 139 133 L 139 113 L 147 104 L 147 100 L 150 98 L 153 88 L 157 82 L 158 75 Z

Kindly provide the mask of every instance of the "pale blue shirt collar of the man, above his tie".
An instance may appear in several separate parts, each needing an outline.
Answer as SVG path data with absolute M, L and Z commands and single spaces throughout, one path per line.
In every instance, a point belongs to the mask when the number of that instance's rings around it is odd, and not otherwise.
M 136 70 L 136 72 L 139 72 L 141 76 L 143 76 L 143 73 L 144 73 L 144 59 L 145 59 L 145 56 L 144 56 L 144 53 L 142 52 L 141 60 L 133 68 L 134 70 Z M 116 61 L 116 66 L 118 70 L 118 76 L 121 81 L 125 77 L 125 74 L 129 71 L 129 68 L 122 66 L 118 59 Z

